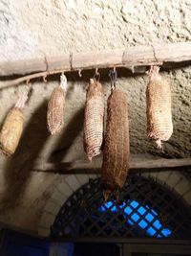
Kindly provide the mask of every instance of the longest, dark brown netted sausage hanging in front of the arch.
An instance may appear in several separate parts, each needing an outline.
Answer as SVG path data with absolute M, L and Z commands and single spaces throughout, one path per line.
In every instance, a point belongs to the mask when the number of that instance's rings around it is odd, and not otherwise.
M 106 190 L 121 189 L 129 169 L 128 104 L 124 92 L 115 89 L 108 98 L 101 179 Z

